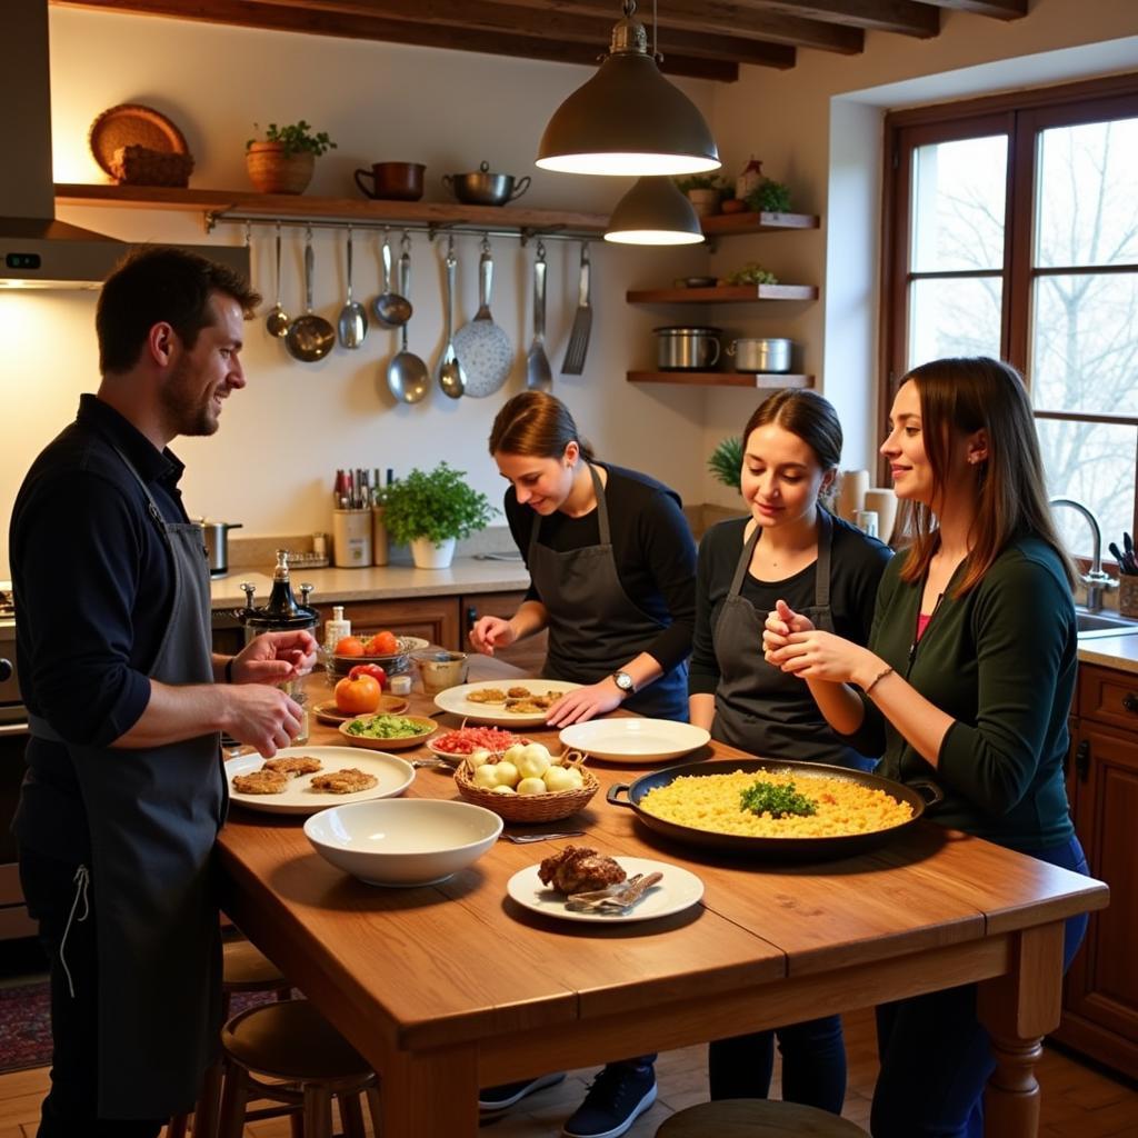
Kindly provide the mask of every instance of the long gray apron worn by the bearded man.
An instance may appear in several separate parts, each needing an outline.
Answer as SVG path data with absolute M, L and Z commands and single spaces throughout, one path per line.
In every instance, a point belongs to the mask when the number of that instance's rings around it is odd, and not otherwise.
M 115 450 L 142 487 L 174 567 L 170 625 L 148 675 L 179 686 L 213 683 L 201 529 L 164 521 L 138 471 Z M 64 742 L 38 716 L 31 728 Z M 228 793 L 220 737 L 209 733 L 145 750 L 65 745 L 91 833 L 99 1118 L 190 1111 L 221 1025 L 213 849 Z

